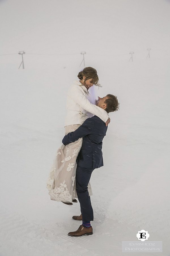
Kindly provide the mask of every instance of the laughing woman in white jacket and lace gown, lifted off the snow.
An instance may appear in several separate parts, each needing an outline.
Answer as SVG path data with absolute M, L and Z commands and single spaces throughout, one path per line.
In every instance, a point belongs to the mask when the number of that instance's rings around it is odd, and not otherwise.
M 75 131 L 89 117 L 97 115 L 106 126 L 110 123 L 108 113 L 95 105 L 93 85 L 99 85 L 96 69 L 85 67 L 78 73 L 79 80 L 75 80 L 67 93 L 67 115 L 65 118 L 65 135 Z M 91 92 L 91 94 L 88 92 Z M 46 188 L 51 200 L 61 201 L 67 205 L 77 202 L 76 194 L 76 158 L 82 146 L 82 138 L 66 146 L 63 144 L 57 150 L 52 169 L 48 177 Z M 89 196 L 92 195 L 90 183 Z

